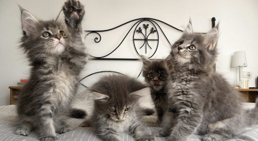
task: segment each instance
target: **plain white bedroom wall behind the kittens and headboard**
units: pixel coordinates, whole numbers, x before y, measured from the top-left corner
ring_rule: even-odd
[[[18,49],[20,30],[20,11],[17,3],[41,19],[50,19],[57,16],[64,1],[34,1],[34,0],[8,0],[0,1],[0,105],[8,105],[10,90],[8,86],[15,86],[21,78],[28,76],[28,63],[25,55]],[[248,67],[243,70],[253,72],[249,86],[256,86],[255,78],[258,76],[256,40],[258,39],[258,1],[119,1],[119,0],[83,0],[86,14],[83,27],[87,30],[102,30],[112,28],[118,24],[140,17],[151,17],[165,21],[181,29],[186,26],[189,16],[192,18],[193,30],[207,32],[211,29],[211,18],[214,16],[220,21],[220,36],[218,48],[220,55],[216,69],[225,74],[231,84],[237,83],[237,70],[230,68],[230,60],[233,52],[246,51]],[[130,25],[102,35],[102,41],[98,44],[87,38],[89,51],[94,55],[104,55],[118,42],[128,31]],[[169,40],[174,42],[180,35],[166,26],[162,26]],[[134,29],[134,28],[133,28]],[[160,34],[160,32],[159,32]],[[92,36],[93,37],[93,36]],[[153,36],[155,38],[155,36]],[[160,36],[160,51],[157,57],[167,55],[169,45]],[[101,48],[101,49],[100,49]],[[101,52],[96,52],[101,51]],[[159,50],[158,49],[158,50]],[[128,35],[115,55],[110,57],[136,57],[132,46],[132,32]],[[91,61],[83,75],[99,70],[119,70],[120,72],[136,76],[141,67],[140,62],[122,61]],[[96,79],[89,78],[86,82]],[[81,89],[82,90],[82,89]],[[81,91],[80,90],[80,91]]]

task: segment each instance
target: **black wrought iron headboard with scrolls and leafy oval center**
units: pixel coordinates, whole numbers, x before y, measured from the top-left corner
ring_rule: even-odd
[[[212,21],[212,28],[215,27],[215,18],[213,17],[211,19]],[[141,27],[139,27],[139,24],[142,23],[143,21],[148,21],[152,24],[153,27],[150,28],[149,32],[147,32],[147,28],[149,28],[149,24],[143,24],[143,29]],[[116,26],[114,28],[110,28],[110,29],[106,29],[106,30],[85,30],[85,32],[87,32],[85,38],[89,35],[89,34],[96,34],[98,35],[98,37],[95,37],[94,38],[94,41],[95,43],[99,43],[101,41],[101,35],[100,35],[100,32],[107,32],[107,31],[110,31],[110,30],[114,30],[116,28],[119,28],[121,26],[124,26],[125,24],[128,24],[128,23],[131,23],[131,22],[134,22],[133,26],[129,29],[129,31],[126,33],[126,35],[124,36],[124,38],[122,39],[122,41],[117,45],[117,47],[115,49],[113,49],[111,52],[109,52],[108,54],[104,55],[104,56],[93,56],[93,55],[90,55],[91,58],[90,60],[131,60],[131,61],[135,61],[135,60],[139,60],[138,58],[108,58],[108,56],[110,54],[112,54],[125,40],[125,38],[127,37],[127,35],[131,32],[131,30],[133,29],[133,27],[136,27],[134,28],[134,32],[133,32],[133,46],[134,46],[134,49],[135,49],[135,52],[140,56],[139,52],[137,51],[136,49],[136,46],[135,46],[135,41],[137,40],[141,40],[141,41],[144,41],[143,45],[139,48],[141,49],[142,47],[144,47],[145,45],[145,53],[147,53],[147,47],[152,49],[152,47],[149,45],[149,41],[156,41],[157,42],[157,46],[156,46],[156,49],[154,51],[154,53],[148,57],[148,58],[151,58],[157,51],[158,49],[158,45],[159,45],[159,33],[158,33],[158,30],[159,29],[162,33],[162,35],[165,37],[166,41],[168,42],[168,44],[171,45],[171,43],[169,42],[167,36],[165,35],[165,33],[163,32],[162,28],[159,26],[158,22],[162,23],[162,24],[165,24],[167,25],[168,27],[171,27],[177,31],[180,31],[180,32],[183,32],[183,30],[180,30],[164,21],[161,21],[161,20],[158,20],[158,19],[154,19],[154,18],[138,18],[138,19],[134,19],[134,20],[131,20],[131,21],[128,21],[128,22],[125,22],[123,24],[120,24],[119,26]],[[157,27],[158,28],[157,28]],[[143,30],[143,31],[142,31]],[[145,32],[144,32],[145,31]],[[141,34],[143,36],[142,39],[139,39],[139,38],[135,38],[135,33],[138,33],[138,34]],[[147,34],[148,33],[148,34]],[[149,35],[151,34],[157,34],[157,39],[149,39]],[[94,73],[91,73],[85,77],[83,77],[82,79],[80,79],[80,84],[82,84],[82,80],[84,80],[85,78],[89,77],[89,76],[92,76],[93,74],[97,74],[97,73],[103,73],[103,72],[114,72],[114,73],[119,73],[119,74],[122,74],[120,72],[116,72],[116,71],[98,71],[98,72],[94,72]],[[141,75],[141,72],[140,74],[138,75],[138,77]],[[138,78],[137,77],[137,78]],[[84,87],[88,88],[87,86],[85,86],[84,84],[82,84]]]

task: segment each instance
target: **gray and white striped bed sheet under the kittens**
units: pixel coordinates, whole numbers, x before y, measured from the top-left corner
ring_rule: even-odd
[[[76,102],[73,105],[77,108],[85,109],[89,114],[91,113],[92,102],[87,92],[79,94],[76,98]],[[147,95],[141,99],[142,106],[153,107],[150,97]],[[247,103],[246,107],[253,107],[254,104]],[[14,134],[15,126],[14,122],[16,119],[16,106],[7,105],[0,106],[0,141],[36,141],[39,140],[35,132],[31,132],[28,136],[19,136]],[[70,118],[68,123],[71,130],[64,134],[57,134],[58,141],[100,141],[100,139],[94,134],[91,127],[79,127],[82,123],[82,119]],[[156,127],[156,116],[150,115],[143,117],[144,123],[148,126],[148,131],[152,134]],[[128,134],[121,134],[121,139],[123,141],[135,141],[135,138]],[[201,141],[201,136],[191,135],[188,139],[189,141]],[[167,138],[157,137],[157,141],[166,141]],[[232,140],[246,140],[246,141],[258,141],[258,125],[247,128],[242,134],[229,139]]]

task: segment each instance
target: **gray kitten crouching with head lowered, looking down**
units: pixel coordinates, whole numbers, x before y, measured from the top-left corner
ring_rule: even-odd
[[[155,141],[142,125],[145,114],[139,108],[139,98],[147,93],[147,86],[125,75],[101,78],[90,88],[94,99],[94,113],[90,123],[96,135],[104,141],[121,141],[120,133],[129,133],[137,141]],[[92,123],[91,123],[92,122]]]

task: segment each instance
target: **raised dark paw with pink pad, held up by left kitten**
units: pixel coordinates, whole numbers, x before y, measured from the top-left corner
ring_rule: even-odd
[[[78,24],[82,22],[84,6],[77,0],[68,0],[63,6],[65,22],[69,28],[78,30]]]

